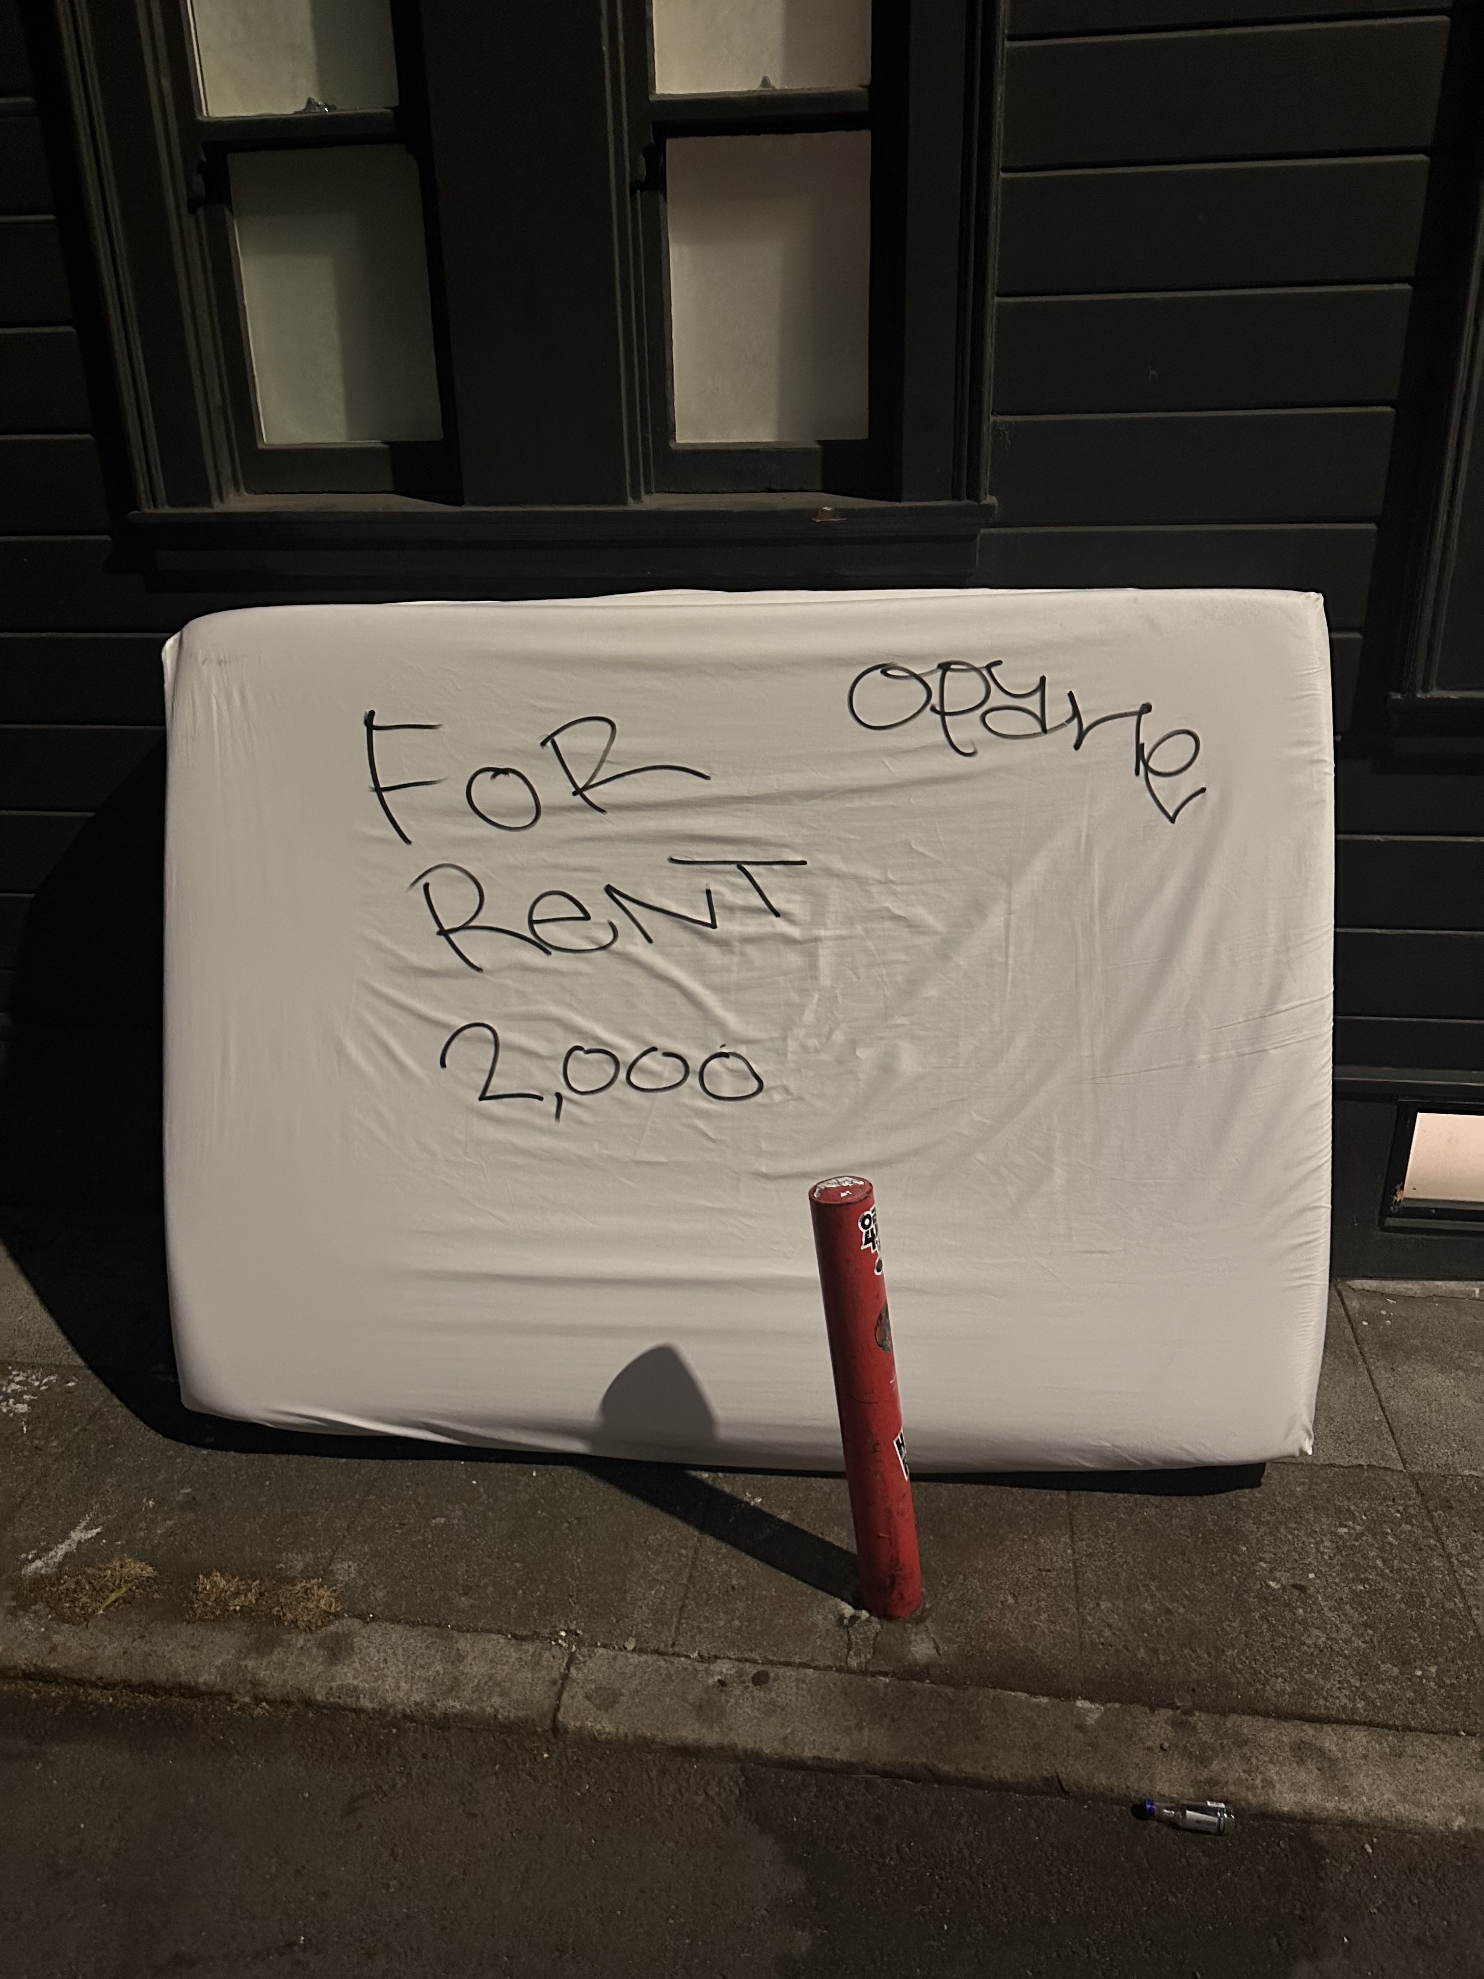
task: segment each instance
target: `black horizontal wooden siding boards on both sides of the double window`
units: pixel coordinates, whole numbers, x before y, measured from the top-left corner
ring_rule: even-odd
[[[1322,592],[1336,1063],[1484,1073],[1484,778],[1397,766],[1363,639],[1448,10],[1009,0],[1007,22],[977,580]],[[158,647],[239,600],[152,590],[117,528],[117,404],[38,73],[40,119],[0,0],[0,1005],[24,956],[28,1017],[156,1037]],[[119,1077],[105,1053],[89,1104]]]

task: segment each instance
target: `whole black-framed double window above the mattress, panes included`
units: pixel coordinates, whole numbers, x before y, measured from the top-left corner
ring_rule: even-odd
[[[837,495],[841,544],[892,503],[871,540],[928,546],[863,578],[932,576],[934,542],[972,568],[977,0],[61,18],[148,540],[186,511],[611,530],[580,515]]]

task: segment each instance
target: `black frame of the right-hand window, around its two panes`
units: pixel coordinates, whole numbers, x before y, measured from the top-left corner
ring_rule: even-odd
[[[867,89],[659,95],[649,0],[621,0],[645,491],[817,491],[879,501],[983,499],[987,214],[983,12],[977,0],[873,0]],[[865,441],[677,443],[665,144],[722,133],[871,131],[871,382]]]

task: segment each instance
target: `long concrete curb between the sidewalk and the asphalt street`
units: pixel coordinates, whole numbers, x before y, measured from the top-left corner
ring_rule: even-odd
[[[1134,1801],[1223,1799],[1241,1815],[1484,1833],[1484,1740],[1306,1724],[845,1670],[702,1662],[402,1623],[317,1635],[109,1615],[0,1613],[0,1676],[463,1724],[774,1765]]]

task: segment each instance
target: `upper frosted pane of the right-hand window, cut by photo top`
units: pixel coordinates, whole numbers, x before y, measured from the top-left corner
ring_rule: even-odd
[[[863,89],[871,0],[653,0],[659,95]]]

